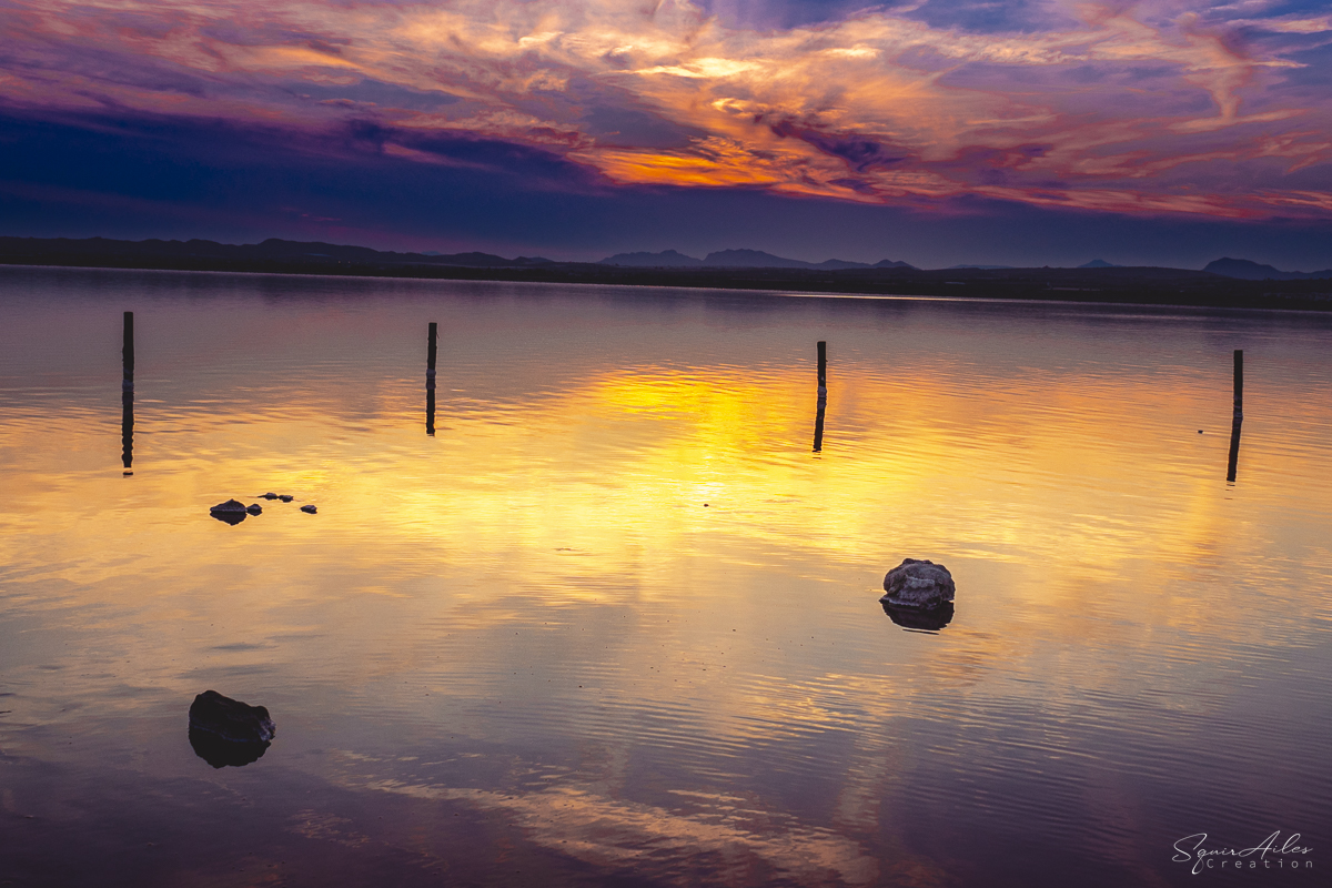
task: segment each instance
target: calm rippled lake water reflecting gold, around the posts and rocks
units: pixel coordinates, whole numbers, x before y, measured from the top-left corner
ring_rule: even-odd
[[[1325,316],[7,268],[0,466],[0,884],[1332,868]]]

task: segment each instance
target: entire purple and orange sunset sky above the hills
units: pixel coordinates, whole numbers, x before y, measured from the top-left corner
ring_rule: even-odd
[[[0,234],[1332,266],[1327,3],[4,0]]]

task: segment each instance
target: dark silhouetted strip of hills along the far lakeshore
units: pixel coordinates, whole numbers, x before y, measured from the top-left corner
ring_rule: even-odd
[[[741,256],[735,256],[739,253]],[[733,261],[769,256],[733,250]],[[687,257],[686,257],[687,258]],[[782,257],[773,257],[781,260]],[[659,261],[659,260],[658,260]],[[785,260],[795,264],[797,260]],[[1235,260],[1229,260],[1235,262]],[[1300,274],[1300,280],[1237,280],[1209,272],[1167,268],[1011,268],[922,270],[904,262],[878,266],[829,268],[801,262],[791,266],[618,266],[591,262],[513,260],[490,253],[426,256],[324,242],[269,240],[262,244],[214,241],[115,241],[107,238],[0,237],[0,264],[72,268],[257,272],[277,274],[342,274],[365,277],[542,281],[550,284],[613,284],[651,288],[706,288],[774,293],[847,293],[984,300],[1059,300],[1135,305],[1199,305],[1332,310],[1332,284],[1305,280],[1332,272]],[[1256,264],[1243,264],[1241,268]],[[1221,268],[1227,268],[1223,265]],[[1252,269],[1249,269],[1252,270]],[[1275,270],[1275,269],[1273,269]],[[1259,273],[1269,274],[1259,266]],[[663,293],[658,298],[667,298]]]

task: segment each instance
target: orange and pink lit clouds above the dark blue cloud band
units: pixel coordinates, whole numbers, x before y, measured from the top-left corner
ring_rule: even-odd
[[[40,113],[178,116],[453,164],[539,149],[599,188],[939,208],[1332,216],[1327,15],[1048,3],[980,32],[928,7],[741,27],[687,0],[12,0],[0,91]],[[727,24],[730,23],[730,24]],[[364,141],[364,140],[362,140]]]

